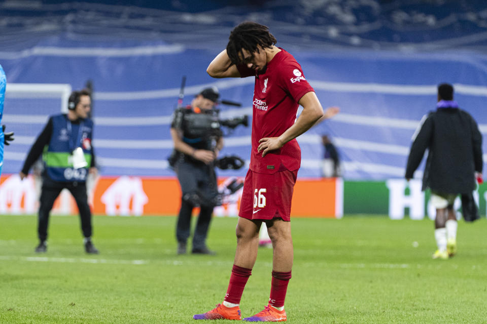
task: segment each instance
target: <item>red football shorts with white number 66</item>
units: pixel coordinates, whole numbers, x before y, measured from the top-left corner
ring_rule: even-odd
[[[243,182],[238,216],[247,219],[291,220],[291,200],[298,170],[274,174],[255,173],[249,169]]]

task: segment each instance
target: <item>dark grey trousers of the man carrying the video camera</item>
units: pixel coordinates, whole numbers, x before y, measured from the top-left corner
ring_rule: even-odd
[[[191,231],[193,208],[200,206],[198,221],[193,234],[193,249],[206,247],[206,236],[210,228],[214,208],[214,198],[218,194],[217,178],[213,166],[196,165],[188,161],[179,161],[176,173],[183,196],[176,225],[178,242],[188,240]]]

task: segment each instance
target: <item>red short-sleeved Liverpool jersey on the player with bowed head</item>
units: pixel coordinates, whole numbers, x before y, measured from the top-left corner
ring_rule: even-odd
[[[245,65],[237,68],[241,77],[256,75]],[[264,157],[257,148],[261,138],[278,137],[294,124],[299,100],[311,91],[315,90],[304,78],[301,66],[283,49],[267,63],[263,74],[255,76],[250,170],[271,174],[299,169],[301,149],[296,139]]]

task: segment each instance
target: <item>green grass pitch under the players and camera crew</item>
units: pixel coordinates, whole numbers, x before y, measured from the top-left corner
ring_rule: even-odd
[[[176,255],[175,217],[93,218],[100,255],[84,254],[77,217],[53,216],[37,255],[34,216],[0,216],[0,323],[195,323],[222,302],[236,218],[214,218],[216,256]],[[194,222],[194,220],[193,220]],[[194,225],[194,224],[193,224]],[[458,255],[432,260],[430,220],[292,220],[289,323],[487,322],[487,221],[459,222]],[[260,249],[244,317],[270,290],[272,251]]]

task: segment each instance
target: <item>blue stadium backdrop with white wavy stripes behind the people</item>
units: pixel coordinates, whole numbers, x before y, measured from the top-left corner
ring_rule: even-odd
[[[267,24],[277,45],[302,65],[324,107],[341,113],[298,138],[299,177],[318,177],[329,134],[339,149],[345,179],[402,177],[411,136],[434,109],[436,85],[452,83],[456,100],[487,132],[487,4],[458,1],[263,2],[242,9],[190,1],[141,7],[44,1],[42,6],[0,3],[0,64],[9,83],[94,84],[94,147],[102,175],[172,176],[166,158],[171,113],[181,77],[185,103],[217,86],[222,117],[252,113],[253,78],[213,79],[206,66],[243,20]],[[311,4],[310,4],[311,3]],[[175,7],[175,4],[179,4]],[[355,5],[354,5],[355,4]],[[4,122],[15,130],[4,173],[17,173],[27,150],[59,100],[5,102]],[[222,154],[250,155],[251,129],[225,138]],[[484,143],[484,151],[487,144]],[[221,171],[223,176],[245,170]],[[421,176],[421,171],[416,177]]]

